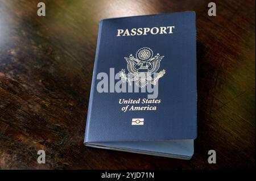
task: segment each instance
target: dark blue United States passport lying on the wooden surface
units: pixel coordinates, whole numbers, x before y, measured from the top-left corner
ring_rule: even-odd
[[[190,159],[196,85],[195,12],[101,20],[84,144]]]

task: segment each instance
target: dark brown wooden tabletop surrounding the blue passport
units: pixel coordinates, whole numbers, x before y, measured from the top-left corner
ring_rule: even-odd
[[[255,1],[0,0],[0,169],[255,169]],[[198,137],[191,161],[83,145],[102,18],[194,10]],[[46,151],[38,164],[37,151]],[[208,150],[217,163],[208,163]]]

